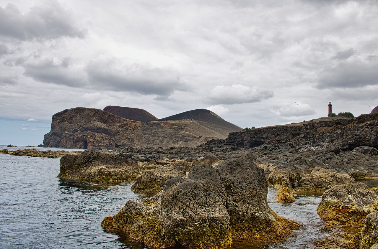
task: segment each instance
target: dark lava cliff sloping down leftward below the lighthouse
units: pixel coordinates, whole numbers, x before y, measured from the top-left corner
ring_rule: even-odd
[[[305,124],[271,126],[232,132],[226,140],[211,140],[212,145],[254,148],[262,144],[292,143],[302,148],[325,147],[352,150],[359,146],[378,148],[378,114],[339,118]]]

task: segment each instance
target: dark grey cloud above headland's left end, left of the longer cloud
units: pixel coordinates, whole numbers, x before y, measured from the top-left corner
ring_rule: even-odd
[[[70,87],[82,87],[83,78],[68,68],[69,58],[61,61],[54,61],[51,58],[37,63],[25,63],[24,75],[31,77],[35,81],[54,83]]]

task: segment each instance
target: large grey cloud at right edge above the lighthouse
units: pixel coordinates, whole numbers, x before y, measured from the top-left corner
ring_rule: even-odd
[[[360,88],[378,85],[378,63],[341,61],[321,72],[316,88]]]

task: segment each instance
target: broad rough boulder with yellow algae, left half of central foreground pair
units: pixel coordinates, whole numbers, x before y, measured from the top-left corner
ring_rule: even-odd
[[[232,243],[222,181],[212,166],[203,164],[194,166],[187,180],[167,180],[150,199],[128,201],[101,225],[153,247],[225,248]]]

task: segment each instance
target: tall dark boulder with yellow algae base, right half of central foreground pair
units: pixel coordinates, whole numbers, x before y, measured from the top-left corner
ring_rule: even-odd
[[[227,193],[232,238],[250,241],[283,241],[299,224],[279,217],[268,206],[268,181],[251,154],[238,154],[217,167]]]

